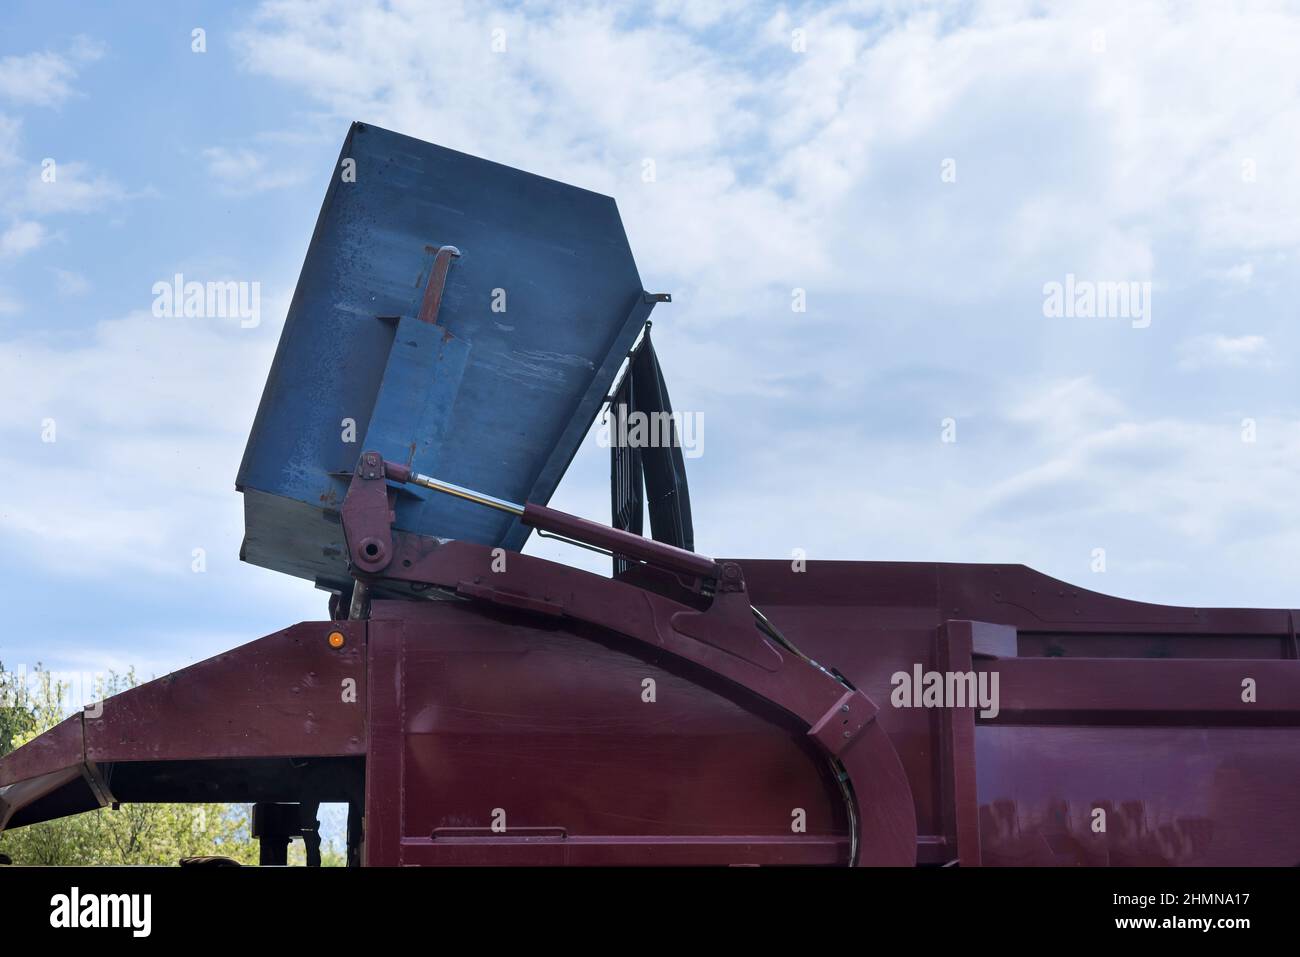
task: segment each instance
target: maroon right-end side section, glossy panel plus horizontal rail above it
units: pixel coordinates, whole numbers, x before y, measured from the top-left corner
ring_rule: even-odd
[[[1300,865],[1300,662],[988,661],[985,861]]]

